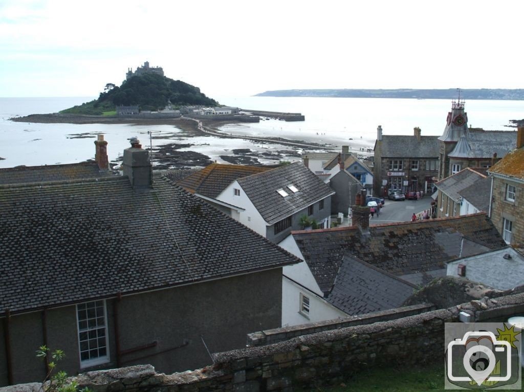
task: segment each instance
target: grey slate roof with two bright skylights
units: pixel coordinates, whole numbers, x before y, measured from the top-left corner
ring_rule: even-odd
[[[328,185],[300,162],[240,178],[238,183],[269,225],[334,194]],[[293,193],[288,185],[297,187],[298,192]],[[277,189],[280,188],[285,189],[288,196],[278,194]]]

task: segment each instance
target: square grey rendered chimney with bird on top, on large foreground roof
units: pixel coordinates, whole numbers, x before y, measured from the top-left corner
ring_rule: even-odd
[[[134,189],[152,187],[152,169],[149,161],[149,152],[142,149],[140,141],[130,138],[131,147],[124,150],[122,167],[124,175]]]

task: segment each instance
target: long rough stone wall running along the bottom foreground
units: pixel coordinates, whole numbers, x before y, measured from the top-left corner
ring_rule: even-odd
[[[214,364],[195,371],[158,374],[150,365],[81,374],[80,387],[94,392],[228,390],[261,392],[340,383],[363,368],[442,361],[444,323],[465,311],[477,321],[505,321],[524,312],[524,293],[485,297],[447,309],[396,320],[322,331],[285,342],[213,355]],[[39,384],[0,388],[0,392],[37,391]]]

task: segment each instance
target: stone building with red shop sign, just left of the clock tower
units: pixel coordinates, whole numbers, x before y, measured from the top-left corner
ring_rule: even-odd
[[[439,144],[436,136],[422,136],[420,128],[413,136],[383,135],[377,128],[374,156],[375,195],[387,197],[388,192],[430,193],[439,171]]]

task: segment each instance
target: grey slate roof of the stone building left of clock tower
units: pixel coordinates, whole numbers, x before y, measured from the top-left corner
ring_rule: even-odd
[[[438,136],[383,135],[382,158],[439,158]]]

